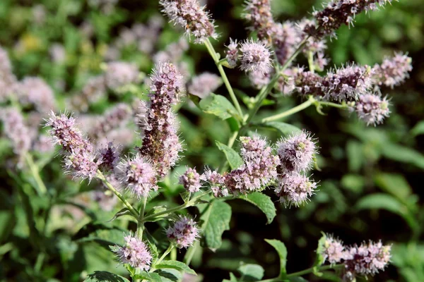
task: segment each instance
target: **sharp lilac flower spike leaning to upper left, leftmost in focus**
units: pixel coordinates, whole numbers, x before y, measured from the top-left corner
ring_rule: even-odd
[[[101,160],[95,161],[93,145],[83,137],[76,128],[73,117],[61,114],[56,116],[53,112],[46,122],[50,126],[50,135],[54,143],[62,147],[65,156],[65,168],[74,176],[92,179],[100,165]]]

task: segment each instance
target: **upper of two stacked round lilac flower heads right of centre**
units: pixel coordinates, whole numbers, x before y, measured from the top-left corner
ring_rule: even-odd
[[[277,147],[280,173],[307,171],[312,167],[314,154],[317,153],[315,140],[305,130],[284,138],[277,143]]]

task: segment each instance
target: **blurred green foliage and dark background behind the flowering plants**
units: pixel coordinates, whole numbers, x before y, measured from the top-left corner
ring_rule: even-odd
[[[218,25],[220,37],[213,42],[223,51],[229,37],[245,39],[249,36],[242,19],[242,0],[203,1]],[[321,1],[273,1],[273,15],[278,20],[300,20],[310,16],[312,7]],[[277,217],[266,225],[263,214],[241,200],[229,201],[232,206],[230,231],[224,233],[223,246],[212,252],[203,250],[193,259],[194,269],[204,281],[221,281],[229,271],[236,271],[241,262],[264,266],[266,277],[278,274],[278,257],[265,238],[282,240],[288,247],[288,271],[310,267],[321,231],[334,233],[346,244],[363,240],[382,240],[393,244],[391,266],[370,281],[424,281],[424,5],[421,0],[394,1],[380,11],[357,16],[355,27],[341,27],[338,39],[328,42],[330,66],[357,62],[373,65],[384,56],[404,51],[413,59],[413,72],[401,87],[385,89],[391,97],[391,116],[383,125],[367,127],[346,111],[324,109],[326,116],[307,109],[290,116],[285,122],[306,128],[319,140],[318,164],[314,171],[319,180],[319,191],[305,207],[285,209],[278,202]],[[69,109],[67,99],[81,91],[87,77],[102,73],[102,63],[114,60],[131,61],[144,73],[149,73],[152,56],[172,42],[181,32],[167,24],[155,0],[1,0],[0,46],[8,50],[13,71],[21,79],[28,75],[44,78],[54,89],[60,109]],[[155,18],[159,16],[158,18]],[[125,30],[136,23],[148,25],[156,20],[160,27],[157,38],[148,39],[151,50],[141,50],[130,42],[124,44]],[[52,46],[64,47],[64,58],[54,59]],[[148,44],[148,46],[150,46]],[[119,47],[112,50],[111,47]],[[113,55],[113,56],[112,56]],[[189,72],[216,72],[213,61],[201,45],[190,44],[182,56]],[[298,63],[305,63],[300,58]],[[244,73],[228,70],[228,77],[237,92],[254,96],[257,90],[249,86]],[[130,102],[134,95],[142,96],[145,85],[124,95],[110,95],[90,105],[88,112],[100,114],[117,101]],[[226,94],[225,87],[216,91]],[[297,97],[282,98],[275,93],[269,106],[260,116],[283,111],[301,102]],[[179,110],[184,158],[173,175],[184,171],[184,165],[217,168],[223,154],[215,147],[215,140],[227,142],[230,128],[225,121],[201,114],[187,103]],[[260,130],[275,142],[280,135]],[[139,144],[140,140],[134,140]],[[42,250],[33,247],[25,211],[20,207],[22,195],[13,189],[13,179],[6,172],[10,145],[1,139],[1,204],[0,204],[0,278],[4,281],[80,281],[81,274],[93,270],[116,269],[113,256],[94,243],[81,243],[81,233],[101,224],[113,213],[100,216],[93,226],[86,226],[87,216],[76,219],[75,211],[57,214],[52,219],[49,236]],[[42,171],[49,187],[57,188],[57,195],[72,197],[93,189],[95,183],[73,183],[62,176],[59,158]],[[170,182],[175,182],[175,177]],[[173,187],[173,188],[172,188]],[[168,185],[157,202],[175,199],[179,187]],[[269,191],[269,195],[276,197]],[[89,200],[87,200],[89,201]],[[176,200],[177,201],[177,200]],[[36,216],[50,207],[45,202],[33,202]],[[52,204],[52,203],[49,203]],[[47,205],[49,205],[47,204]],[[89,206],[90,207],[90,206]],[[98,207],[90,207],[98,209]],[[190,212],[196,214],[193,209]],[[69,223],[64,221],[69,219]],[[57,222],[56,222],[57,221]],[[57,226],[54,225],[57,223]],[[59,224],[60,223],[60,224]],[[67,224],[67,225],[66,225]],[[134,226],[133,226],[134,227]],[[88,228],[88,229],[87,229]],[[149,228],[149,226],[148,226]],[[157,226],[151,226],[157,228]],[[34,274],[33,265],[39,252],[45,252],[43,274]],[[177,254],[184,255],[183,253]],[[37,276],[37,278],[34,278]],[[34,280],[33,280],[34,279]],[[332,274],[310,276],[308,281],[338,281]],[[360,281],[360,279],[358,279]],[[54,280],[51,280],[54,281]]]

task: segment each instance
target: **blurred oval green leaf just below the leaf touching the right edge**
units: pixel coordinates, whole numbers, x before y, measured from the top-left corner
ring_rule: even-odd
[[[374,180],[379,188],[400,200],[407,200],[412,194],[411,186],[401,174],[379,173]]]

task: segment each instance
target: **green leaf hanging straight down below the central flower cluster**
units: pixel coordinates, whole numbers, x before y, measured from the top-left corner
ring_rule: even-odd
[[[222,244],[222,235],[230,229],[231,207],[226,202],[214,200],[207,207],[206,212],[200,217],[204,223],[204,243],[212,250],[218,249]]]

